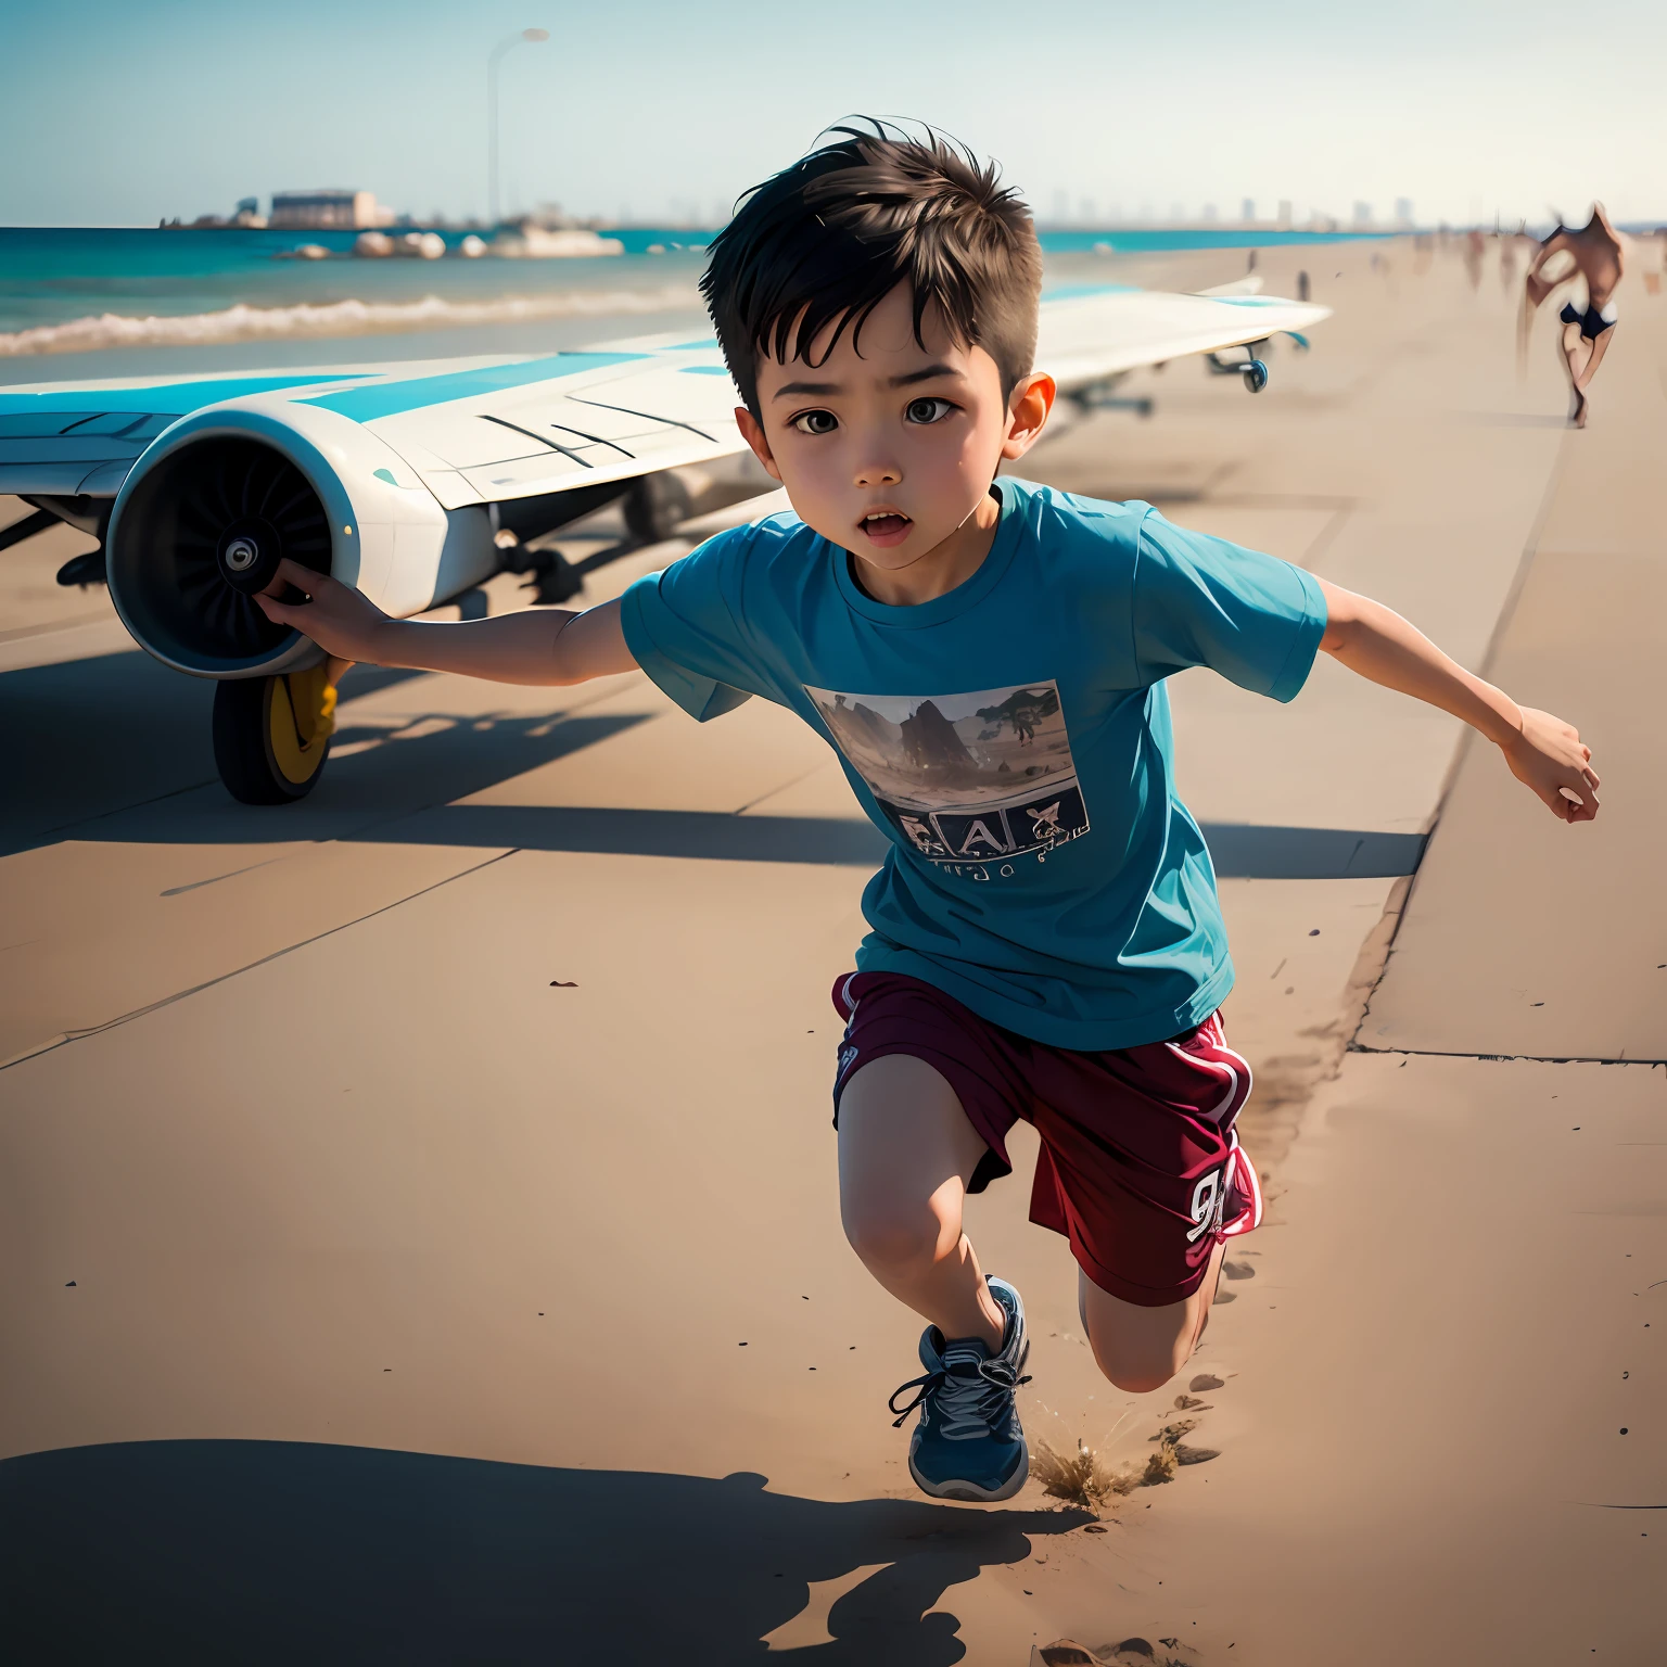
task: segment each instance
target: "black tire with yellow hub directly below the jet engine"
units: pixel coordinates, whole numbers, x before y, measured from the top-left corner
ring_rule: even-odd
[[[245,805],[305,798],[323,775],[335,732],[335,690],[325,665],[215,685],[213,762]]]

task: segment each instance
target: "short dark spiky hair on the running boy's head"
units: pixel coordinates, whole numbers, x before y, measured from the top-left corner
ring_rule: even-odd
[[[855,343],[899,283],[915,302],[915,340],[937,307],[967,347],[1002,372],[1002,393],[1030,373],[1042,248],[1025,202],[995,165],[930,128],[884,122],[842,135],[753,187],[713,238],[700,278],[723,358],[758,415],[757,355],[808,360],[815,337],[845,327]]]

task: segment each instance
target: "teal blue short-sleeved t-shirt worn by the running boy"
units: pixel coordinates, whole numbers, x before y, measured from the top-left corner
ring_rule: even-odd
[[[1234,969],[1164,678],[1209,665],[1290,700],[1325,598],[1147,503],[997,490],[984,565],[932,602],[875,602],[845,550],[783,513],[638,578],[625,642],[702,722],[763,695],[834,745],[890,839],[860,970],[1059,1047],[1172,1037]]]

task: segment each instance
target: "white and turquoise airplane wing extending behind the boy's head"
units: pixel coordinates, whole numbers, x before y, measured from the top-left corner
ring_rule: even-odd
[[[1042,303],[1037,365],[1064,392],[1142,365],[1319,323],[1329,308],[1254,293],[1072,285]],[[277,423],[328,412],[373,435],[442,508],[633,480],[742,450],[710,338],[642,338],[542,358],[467,358],[267,375],[0,390],[0,492],[115,498],[175,423],[208,407]]]

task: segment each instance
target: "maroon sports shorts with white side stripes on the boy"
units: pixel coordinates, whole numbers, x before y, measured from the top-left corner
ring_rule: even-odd
[[[1229,1045],[1220,1014],[1169,1042],[1082,1054],[1004,1030],[920,979],[854,972],[834,985],[845,1019],[839,1097],[887,1054],[937,1070],[989,1152],[969,1185],[1012,1174],[1007,1130],[1042,1137],[1030,1220],[1070,1239],[1102,1290],[1157,1309],[1190,1297],[1222,1239],[1262,1215],[1255,1169],[1234,1120],[1250,1067]]]

